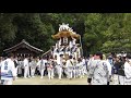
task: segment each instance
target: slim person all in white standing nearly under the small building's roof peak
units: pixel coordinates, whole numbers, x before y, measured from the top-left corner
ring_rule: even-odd
[[[27,76],[31,77],[29,76],[29,62],[28,62],[27,56],[25,56],[23,63],[24,63],[24,78],[27,78]]]

